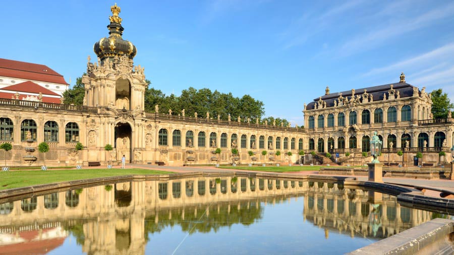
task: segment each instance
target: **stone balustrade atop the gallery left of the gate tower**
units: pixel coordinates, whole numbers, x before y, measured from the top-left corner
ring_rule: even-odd
[[[44,108],[44,109],[56,109],[56,110],[68,110],[68,111],[83,111],[90,113],[97,113],[96,107],[88,107],[84,105],[70,105],[70,104],[55,104],[55,103],[43,103],[34,101],[24,101],[17,99],[6,99],[0,98],[0,105],[20,106],[24,108]]]

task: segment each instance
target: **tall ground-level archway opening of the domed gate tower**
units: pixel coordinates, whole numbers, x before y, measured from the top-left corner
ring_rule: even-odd
[[[131,162],[132,154],[132,130],[128,123],[118,123],[115,126],[115,149],[117,150],[117,160],[121,160],[123,155],[126,162]]]

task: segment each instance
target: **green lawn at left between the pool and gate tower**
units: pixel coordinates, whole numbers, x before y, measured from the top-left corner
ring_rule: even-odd
[[[7,171],[0,172],[0,190],[25,187],[37,184],[53,183],[69,180],[81,180],[98,177],[121,176],[130,174],[169,174],[172,172],[148,169],[65,169],[49,171]]]

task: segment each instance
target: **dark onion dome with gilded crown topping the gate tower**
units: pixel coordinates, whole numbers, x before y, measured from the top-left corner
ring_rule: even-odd
[[[124,28],[122,27],[122,18],[118,16],[121,9],[115,4],[110,8],[112,16],[109,16],[110,24],[107,25],[109,36],[101,38],[93,45],[93,51],[96,55],[104,60],[106,57],[116,57],[127,55],[133,58],[137,49],[130,41],[123,40],[122,34]]]

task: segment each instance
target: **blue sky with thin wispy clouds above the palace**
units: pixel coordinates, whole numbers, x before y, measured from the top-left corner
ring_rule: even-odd
[[[74,84],[106,37],[107,1],[4,1],[0,57],[47,65]],[[152,86],[250,94],[303,124],[303,104],[399,82],[454,101],[452,1],[117,1],[123,38]]]

